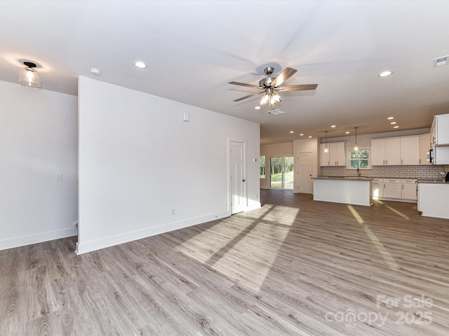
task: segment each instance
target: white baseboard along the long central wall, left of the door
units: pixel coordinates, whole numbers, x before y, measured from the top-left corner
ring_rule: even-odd
[[[119,244],[128,243],[129,241],[134,241],[142,238],[147,238],[155,235],[160,235],[161,233],[166,233],[174,230],[179,230],[182,228],[187,228],[189,226],[198,225],[201,223],[206,223],[209,221],[214,221],[216,219],[225,218],[231,216],[230,211],[225,211],[219,214],[211,214],[207,216],[201,216],[197,218],[192,218],[187,221],[180,221],[175,223],[168,223],[165,225],[156,226],[153,228],[147,228],[144,230],[126,232],[123,235],[116,235],[112,237],[106,237],[104,239],[99,239],[95,241],[86,241],[76,243],[76,254],[88,253],[101,248],[107,248],[110,246],[115,246]],[[79,229],[82,232],[83,223],[79,225]],[[82,237],[82,233],[81,233]],[[79,239],[80,240],[80,239]]]

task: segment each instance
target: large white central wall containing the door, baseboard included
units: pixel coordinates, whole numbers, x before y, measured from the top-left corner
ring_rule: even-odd
[[[229,141],[260,207],[260,125],[80,77],[77,253],[229,216]]]

